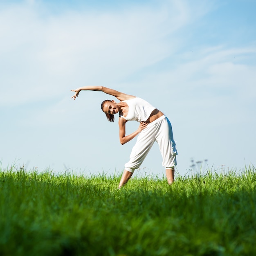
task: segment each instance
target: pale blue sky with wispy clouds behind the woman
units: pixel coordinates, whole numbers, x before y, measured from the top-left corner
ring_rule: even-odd
[[[2,168],[123,170],[135,140],[122,146],[118,124],[106,121],[100,104],[111,97],[71,100],[84,85],[164,112],[181,175],[191,159],[213,170],[255,166],[255,10],[252,0],[1,1]],[[129,122],[127,132],[137,127]],[[144,173],[164,173],[157,144]]]

